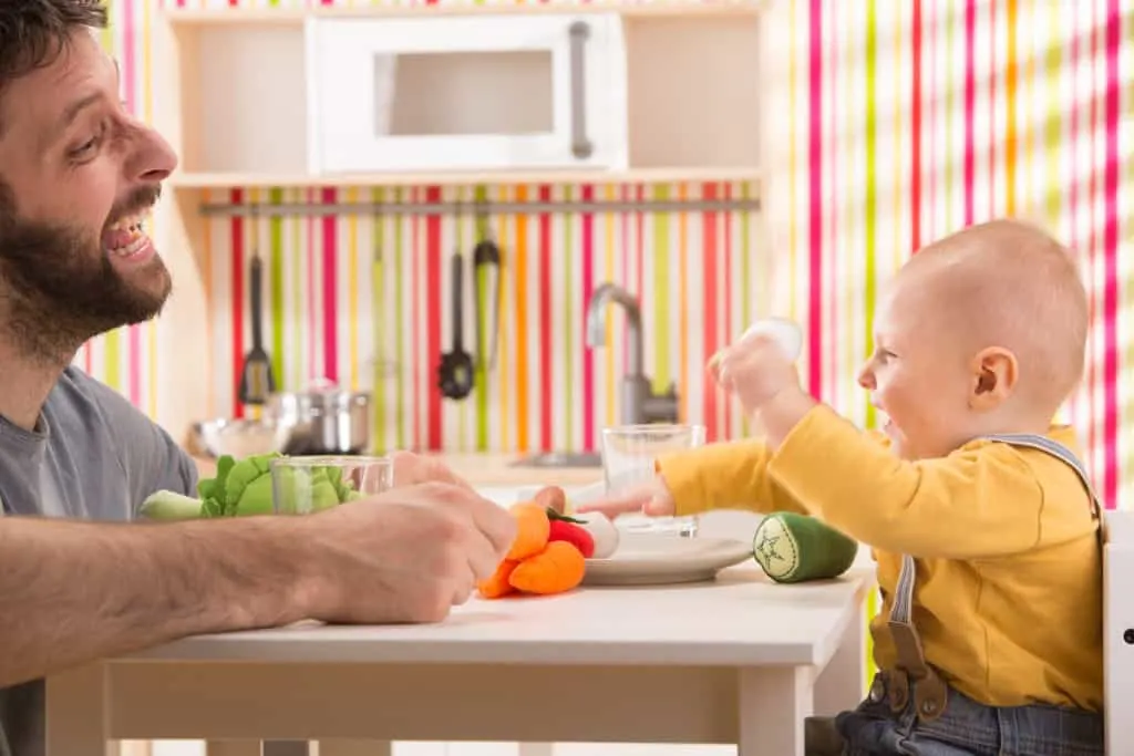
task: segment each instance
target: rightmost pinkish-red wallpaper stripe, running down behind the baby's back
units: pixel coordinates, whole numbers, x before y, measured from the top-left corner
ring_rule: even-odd
[[[1105,462],[1102,472],[1102,500],[1108,509],[1118,504],[1118,128],[1119,128],[1119,70],[1122,50],[1122,10],[1119,0],[1107,3],[1106,35],[1107,85],[1103,99],[1106,119],[1106,161],[1102,168],[1103,212],[1102,252],[1106,255],[1102,313],[1105,351],[1102,387],[1106,400],[1103,416]]]

